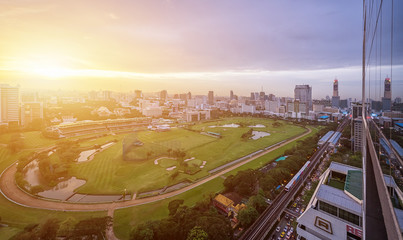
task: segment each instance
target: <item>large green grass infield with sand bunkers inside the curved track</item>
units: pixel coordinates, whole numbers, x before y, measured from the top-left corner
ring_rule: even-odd
[[[242,122],[245,127],[240,128],[210,128],[213,125],[224,125],[228,123]],[[279,121],[282,122],[282,121]],[[242,140],[241,136],[247,132],[249,125],[263,124],[265,128],[255,128],[257,131],[269,132],[271,135],[258,140]],[[195,181],[209,175],[208,171],[221,166],[227,162],[238,159],[249,153],[255,152],[264,147],[275,144],[284,139],[299,135],[306,131],[304,128],[282,122],[282,126],[273,127],[273,121],[257,118],[232,118],[215,122],[208,122],[192,126],[195,131],[186,129],[172,129],[168,132],[142,131],[135,135],[135,138],[144,145],[133,147],[130,153],[135,158],[145,160],[124,161],[122,159],[122,142],[125,136],[107,136],[103,141],[111,140],[112,137],[118,142],[105,151],[95,155],[90,162],[74,164],[72,175],[87,180],[86,184],[78,189],[78,192],[85,194],[122,194],[124,189],[131,193],[147,192],[174,185],[182,181]],[[214,131],[222,135],[222,138],[215,138],[198,133]],[[100,143],[100,139],[97,142]],[[154,164],[154,159],[161,156],[158,152],[168,156],[166,149],[179,149],[186,151],[186,158],[194,157],[189,162],[193,170],[197,171],[202,161],[206,161],[204,168],[196,174],[189,175],[180,172],[174,179],[171,177],[176,171],[167,171],[165,168],[178,166],[179,160],[163,160],[162,165]],[[152,151],[149,159],[146,153]]]

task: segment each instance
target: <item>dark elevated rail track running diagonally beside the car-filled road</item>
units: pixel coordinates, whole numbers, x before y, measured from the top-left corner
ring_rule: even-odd
[[[348,118],[337,127],[336,132],[342,132],[344,127],[348,123]],[[318,151],[316,151],[310,161],[311,164],[307,167],[306,171],[301,175],[299,182],[292,187],[288,192],[282,191],[272,202],[272,204],[266,208],[266,210],[259,216],[259,218],[249,227],[249,229],[240,237],[240,239],[264,239],[273,224],[277,221],[281,213],[285,210],[290,201],[294,198],[299,188],[304,185],[306,179],[311,175],[312,171],[316,168],[320,162],[320,158],[323,156],[329,146],[329,142],[323,144]]]

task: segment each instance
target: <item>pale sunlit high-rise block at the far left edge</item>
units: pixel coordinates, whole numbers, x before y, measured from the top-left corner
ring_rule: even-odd
[[[7,84],[0,85],[0,121],[3,123],[20,123],[20,87]]]

